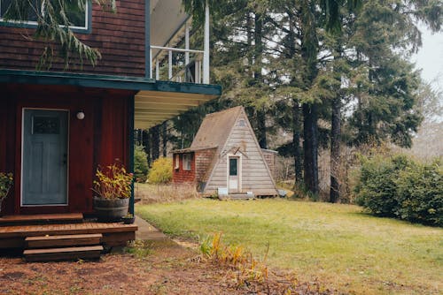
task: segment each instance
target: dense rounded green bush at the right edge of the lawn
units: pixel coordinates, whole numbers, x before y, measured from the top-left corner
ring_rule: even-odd
[[[377,216],[443,225],[443,169],[405,155],[363,158],[357,203]]]

